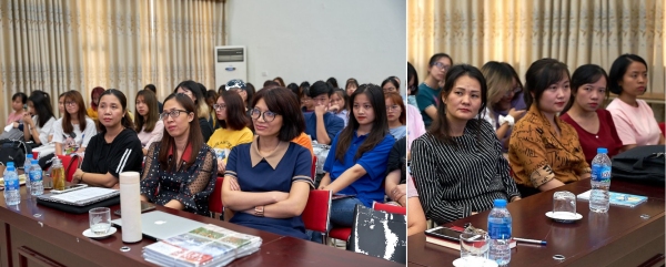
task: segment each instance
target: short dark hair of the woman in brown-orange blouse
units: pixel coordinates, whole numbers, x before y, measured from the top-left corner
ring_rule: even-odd
[[[538,101],[542,94],[551,84],[559,82],[562,79],[571,80],[568,69],[565,63],[555,59],[541,59],[532,63],[525,73],[525,104],[527,109],[533,103],[536,103],[538,110]],[[534,96],[532,96],[534,94]]]

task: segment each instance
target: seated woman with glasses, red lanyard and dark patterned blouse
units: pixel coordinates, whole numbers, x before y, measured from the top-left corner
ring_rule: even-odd
[[[164,100],[167,135],[148,150],[141,175],[141,201],[209,216],[215,189],[215,153],[203,142],[196,105],[184,94]]]

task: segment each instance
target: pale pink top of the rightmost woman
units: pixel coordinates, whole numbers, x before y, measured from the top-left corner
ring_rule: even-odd
[[[662,130],[655,120],[653,110],[643,100],[636,100],[638,107],[632,106],[619,99],[608,104],[613,115],[617,135],[623,145],[656,145],[659,144]]]

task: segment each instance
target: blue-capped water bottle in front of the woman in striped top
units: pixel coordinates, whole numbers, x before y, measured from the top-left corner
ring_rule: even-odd
[[[511,213],[506,209],[505,199],[495,199],[495,207],[488,215],[488,234],[491,246],[488,257],[498,266],[507,266],[511,261]]]

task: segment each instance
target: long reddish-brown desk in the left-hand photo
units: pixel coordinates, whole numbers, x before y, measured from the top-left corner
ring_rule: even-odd
[[[50,243],[63,249],[62,253],[77,255],[83,260],[101,266],[152,266],[151,263],[143,259],[141,253],[142,248],[154,243],[153,240],[144,237],[139,243],[124,244],[122,243],[122,229],[119,229],[107,239],[87,238],[82,233],[89,227],[88,214],[69,214],[44,207],[38,205],[34,198],[28,196],[23,186],[21,192],[21,204],[18,206],[8,207],[4,201],[0,201],[0,223],[6,223],[1,226],[18,229],[20,233],[28,233],[31,237],[38,238],[39,242]],[[0,198],[4,199],[4,196],[0,194]],[[118,208],[120,208],[120,205],[111,207],[112,210]],[[400,266],[381,258],[369,257],[313,242],[279,236],[182,210],[161,206],[158,209],[262,238],[262,246],[258,253],[239,258],[229,266]],[[113,214],[111,216],[112,219],[119,218]],[[3,235],[0,234],[0,237],[3,237]],[[6,257],[12,255],[12,251],[9,251],[11,248],[4,245],[0,244],[0,249],[2,249],[0,259],[7,261]],[[131,250],[120,251],[122,246],[128,246]],[[51,259],[59,261],[58,259]],[[17,259],[13,260],[12,265],[16,265]]]

